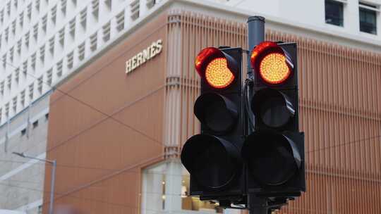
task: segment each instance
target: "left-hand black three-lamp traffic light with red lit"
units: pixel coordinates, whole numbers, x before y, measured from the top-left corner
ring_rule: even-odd
[[[189,138],[181,163],[191,174],[190,194],[229,206],[241,200],[244,176],[242,49],[207,47],[195,60],[201,92],[194,113],[201,133]]]

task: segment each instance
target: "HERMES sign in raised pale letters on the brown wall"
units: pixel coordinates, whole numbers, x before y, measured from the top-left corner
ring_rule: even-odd
[[[131,57],[126,61],[126,74],[131,73],[131,71],[138,68],[140,65],[143,65],[145,62],[149,61],[151,58],[154,58],[157,54],[162,52],[163,42],[162,39],[152,42],[150,46]]]

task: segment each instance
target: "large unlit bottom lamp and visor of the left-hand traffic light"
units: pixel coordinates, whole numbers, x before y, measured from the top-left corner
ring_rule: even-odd
[[[184,144],[181,163],[200,185],[219,189],[228,185],[239,172],[238,155],[238,149],[228,141],[197,134]]]

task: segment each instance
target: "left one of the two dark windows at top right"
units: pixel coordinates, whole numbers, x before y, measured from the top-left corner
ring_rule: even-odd
[[[344,26],[344,4],[340,1],[325,0],[325,23]]]

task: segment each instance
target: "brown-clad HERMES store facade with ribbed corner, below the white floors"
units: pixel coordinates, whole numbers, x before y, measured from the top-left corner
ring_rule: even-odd
[[[234,15],[169,4],[61,85],[81,102],[59,92],[51,97],[47,154],[71,165],[57,171],[57,209],[222,212],[187,196],[189,175],[179,153],[199,132],[193,116],[200,85],[195,56],[206,46],[247,46],[245,18]],[[298,43],[300,123],[306,132],[307,192],[282,212],[378,213],[381,55],[374,45],[359,49],[297,29],[267,21],[267,39]],[[126,73],[128,61],[159,40],[161,52]]]

